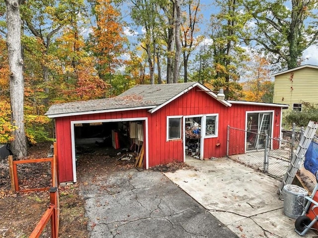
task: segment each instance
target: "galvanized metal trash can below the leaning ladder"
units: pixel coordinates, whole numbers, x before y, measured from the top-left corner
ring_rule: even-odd
[[[287,184],[283,188],[284,214],[296,219],[302,215],[308,191],[295,184]]]

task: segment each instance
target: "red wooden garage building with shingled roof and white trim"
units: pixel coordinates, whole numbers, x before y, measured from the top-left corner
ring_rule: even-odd
[[[187,82],[136,85],[113,98],[55,104],[46,115],[55,120],[59,180],[76,182],[76,148],[82,140],[111,138],[116,149],[143,144],[146,169],[185,161],[189,152],[199,159],[224,157],[259,149],[264,142],[245,132],[227,148],[228,126],[278,138],[285,107],[227,101],[198,82]]]

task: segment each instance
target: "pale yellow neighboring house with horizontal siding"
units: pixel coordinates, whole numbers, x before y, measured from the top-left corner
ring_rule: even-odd
[[[273,103],[288,104],[295,111],[302,110],[303,102],[318,104],[318,66],[303,65],[272,76],[275,77]]]

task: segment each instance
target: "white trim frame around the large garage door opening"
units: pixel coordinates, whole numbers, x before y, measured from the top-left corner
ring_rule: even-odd
[[[77,182],[76,175],[76,153],[75,153],[75,124],[79,123],[93,123],[93,122],[122,122],[122,121],[145,121],[145,136],[144,143],[146,144],[145,156],[146,156],[146,169],[149,168],[149,144],[148,144],[148,118],[147,117],[137,117],[137,118],[119,118],[119,119],[106,119],[106,120],[80,120],[71,121],[71,141],[72,141],[72,165],[73,165],[73,182]],[[146,138],[146,139],[145,139]]]

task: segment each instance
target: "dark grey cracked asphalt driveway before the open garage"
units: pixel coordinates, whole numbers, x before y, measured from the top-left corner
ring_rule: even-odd
[[[238,238],[158,171],[105,173],[80,194],[91,238]]]

